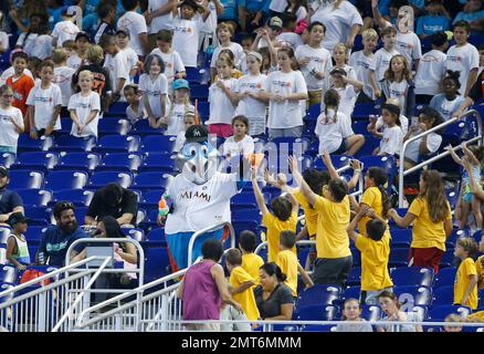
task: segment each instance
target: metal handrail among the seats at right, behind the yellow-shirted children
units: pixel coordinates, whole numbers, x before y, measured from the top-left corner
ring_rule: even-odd
[[[414,166],[414,167],[412,167],[410,169],[404,170],[403,169],[404,164],[403,164],[402,159],[404,158],[404,153],[407,150],[408,145],[410,143],[414,142],[414,140],[418,140],[418,139],[429,135],[430,133],[440,131],[443,127],[445,127],[445,126],[448,126],[448,125],[450,125],[452,123],[462,121],[464,117],[466,117],[469,115],[473,115],[473,114],[475,114],[475,116],[477,118],[477,136],[471,138],[467,143],[477,142],[478,145],[482,145],[482,143],[483,143],[482,142],[482,138],[483,138],[483,134],[482,134],[482,117],[481,117],[480,113],[477,111],[475,111],[475,110],[467,111],[461,117],[453,117],[453,118],[451,118],[451,119],[449,119],[449,121],[446,121],[446,122],[444,122],[444,123],[442,123],[442,124],[440,124],[440,125],[438,125],[438,126],[435,126],[435,127],[433,127],[433,128],[431,128],[429,131],[425,131],[425,132],[420,133],[420,134],[418,134],[415,136],[412,136],[411,138],[409,138],[408,140],[406,140],[402,144],[402,146],[400,148],[400,159],[401,159],[401,162],[400,162],[400,166],[399,166],[399,180],[398,180],[398,189],[399,189],[398,190],[398,206],[399,206],[399,208],[403,207],[403,177],[414,173],[415,170],[418,170],[418,169],[420,169],[420,168],[422,168],[424,166],[428,166],[429,164],[431,164],[433,162],[442,159],[442,158],[444,158],[445,156],[448,156],[450,154],[450,152],[443,152],[443,153],[441,153],[441,154],[439,154],[439,155],[436,155],[436,156],[434,156],[432,158],[429,158],[429,159],[424,160],[423,163],[418,164],[417,166]],[[454,149],[459,150],[461,148],[462,148],[461,146],[456,146]]]

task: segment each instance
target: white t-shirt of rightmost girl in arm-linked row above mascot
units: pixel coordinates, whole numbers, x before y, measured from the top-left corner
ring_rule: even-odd
[[[306,82],[301,71],[283,73],[276,71],[269,74],[265,81],[265,91],[281,95],[293,93],[307,93]],[[303,125],[303,112],[301,101],[284,100],[269,103],[269,128],[292,128]]]

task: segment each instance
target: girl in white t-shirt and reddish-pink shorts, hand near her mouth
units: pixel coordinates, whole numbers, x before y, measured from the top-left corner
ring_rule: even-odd
[[[235,115],[236,80],[232,77],[233,62],[219,59],[215,63],[218,80],[209,88],[209,133],[228,137],[232,135],[232,118]]]

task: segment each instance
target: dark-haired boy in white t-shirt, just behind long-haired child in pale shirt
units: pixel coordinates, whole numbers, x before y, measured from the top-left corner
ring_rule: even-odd
[[[172,83],[177,79],[183,79],[187,76],[185,65],[180,54],[171,49],[173,35],[171,31],[161,30],[156,35],[156,45],[151,54],[158,54],[165,62],[165,76],[168,79],[168,90],[170,94],[173,93]]]

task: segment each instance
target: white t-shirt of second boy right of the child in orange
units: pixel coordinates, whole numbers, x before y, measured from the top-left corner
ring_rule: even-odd
[[[95,137],[97,137],[97,123],[99,121],[101,112],[101,98],[97,92],[91,92],[87,96],[83,96],[81,92],[72,95],[69,100],[67,110],[75,111],[77,119],[81,124],[84,124],[87,121],[87,117],[92,111],[97,111],[94,119],[84,127],[84,131],[81,135],[77,134],[77,126],[75,124],[72,125],[71,129],[71,135],[74,136],[94,135]]]

